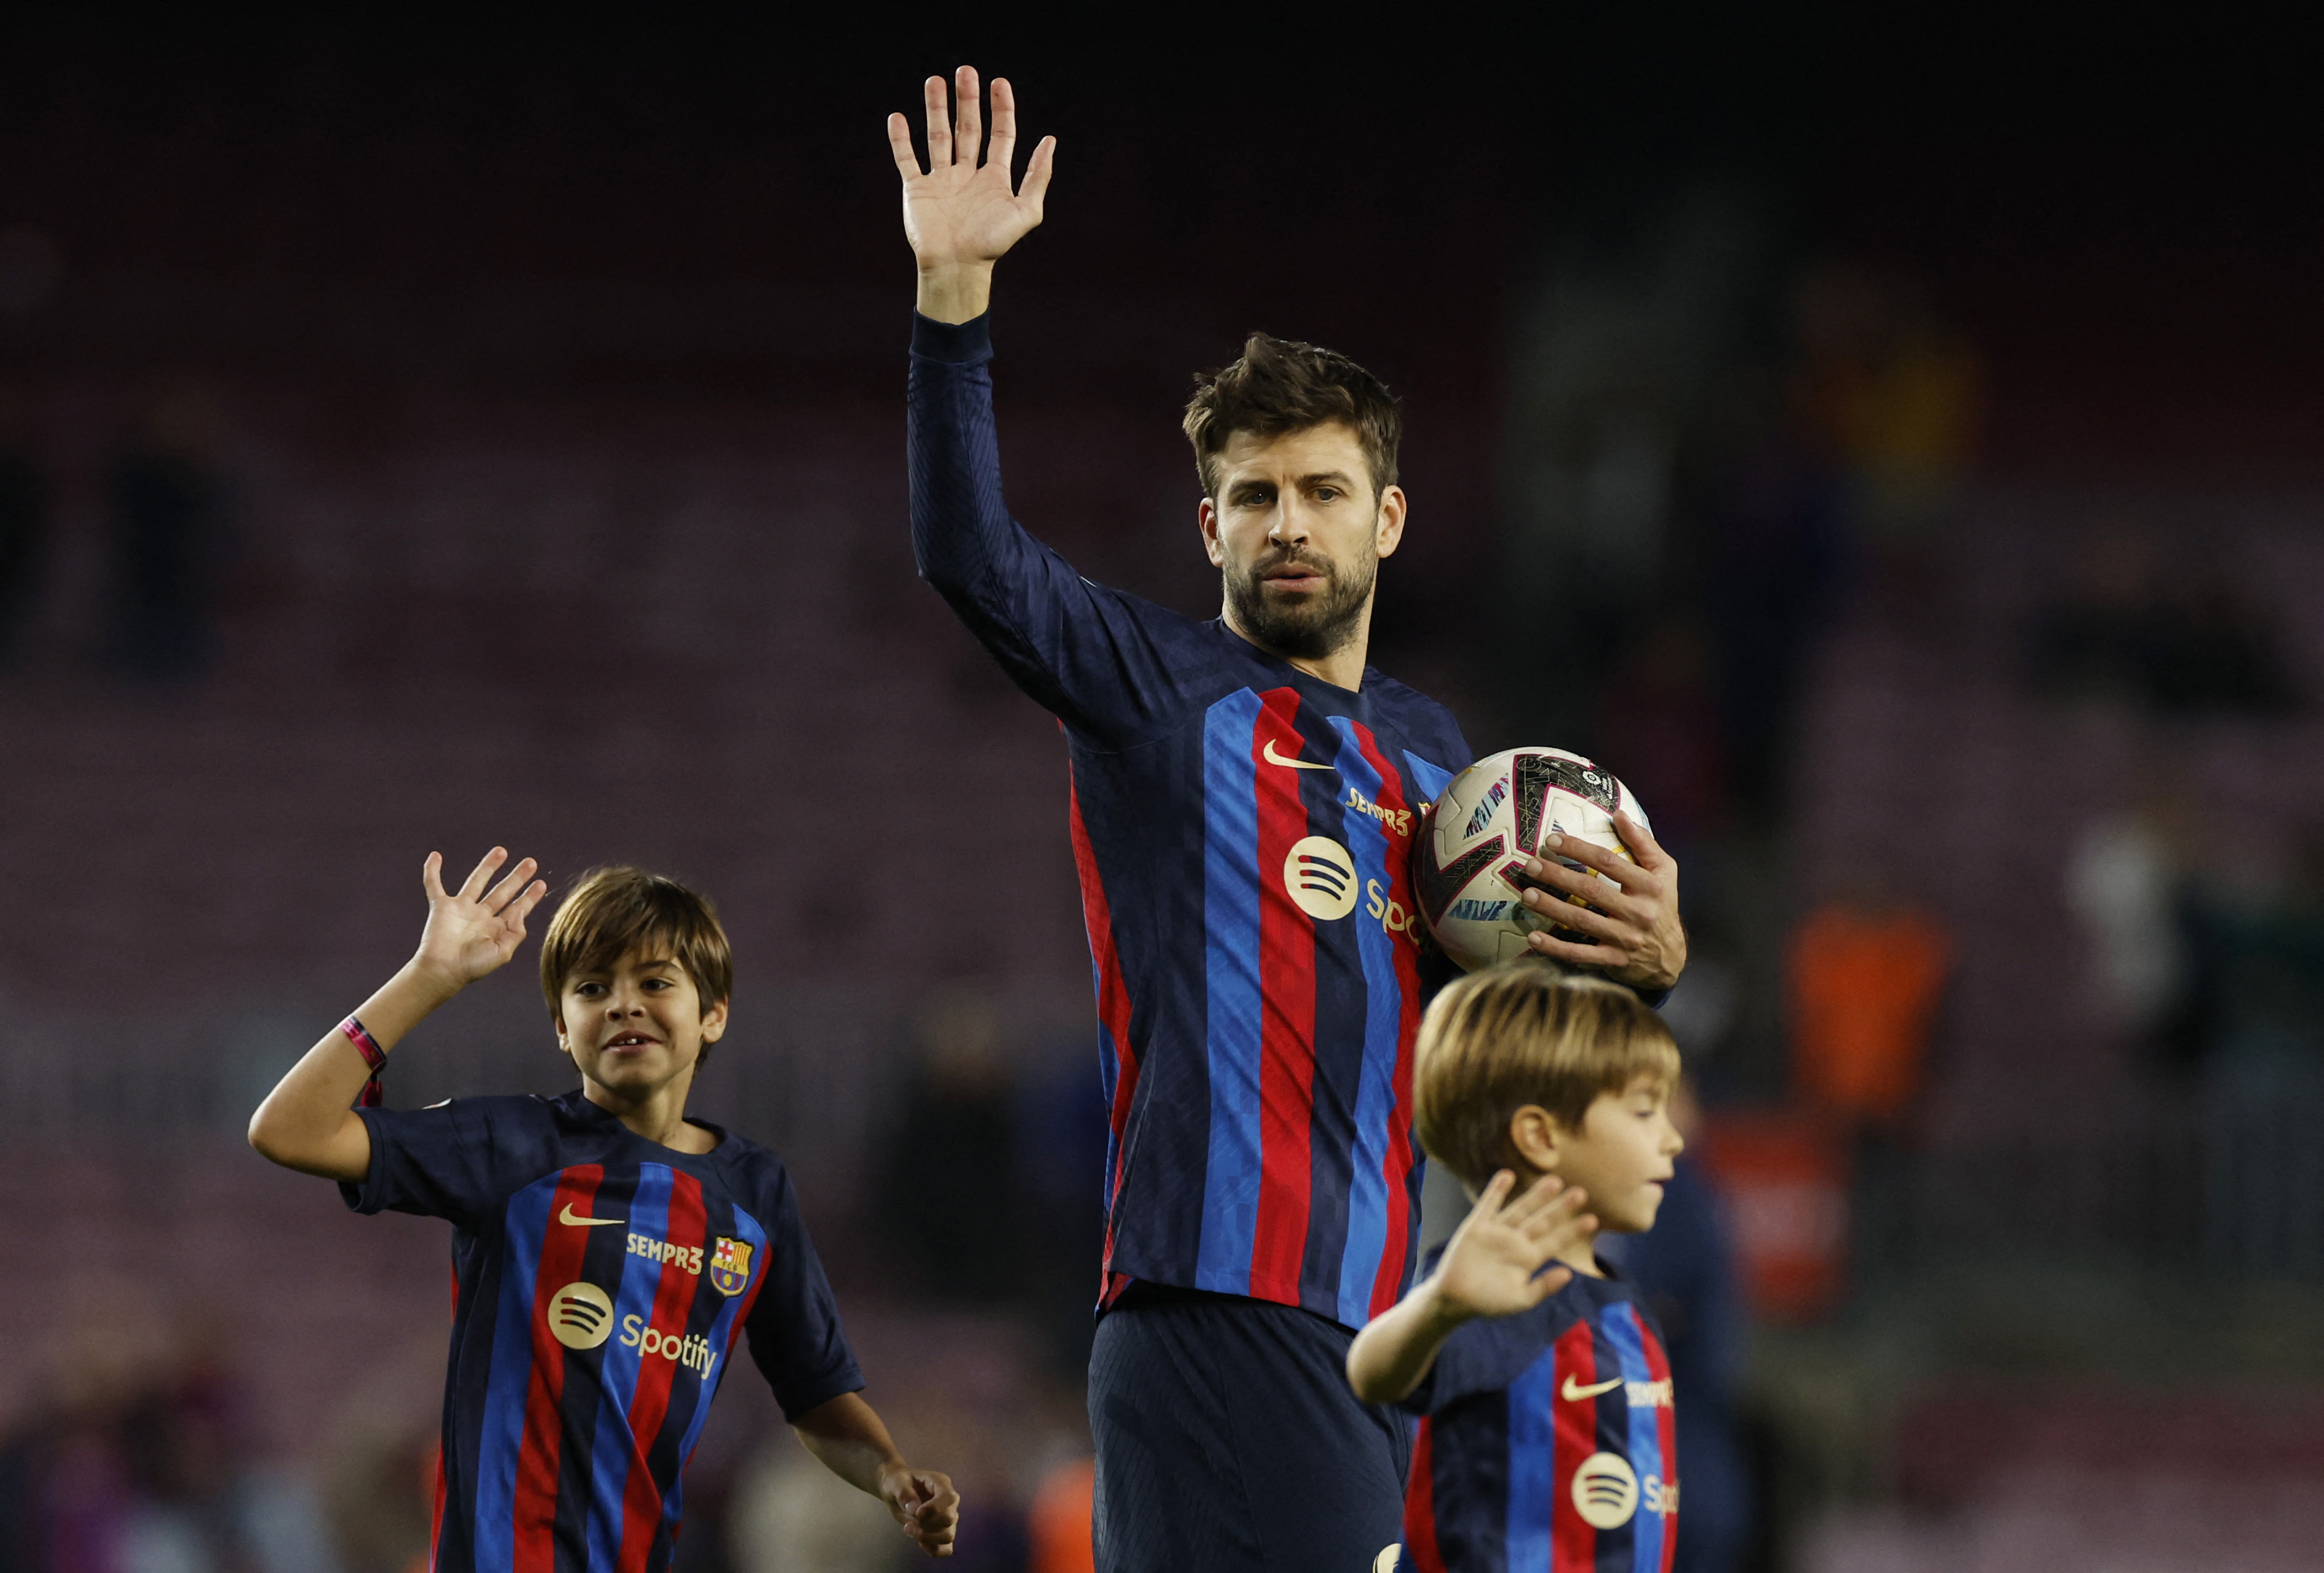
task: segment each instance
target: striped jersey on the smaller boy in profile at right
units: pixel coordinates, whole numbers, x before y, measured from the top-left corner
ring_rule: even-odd
[[[1578,1276],[1522,1315],[1469,1322],[1404,1408],[1420,1415],[1406,1573],[1669,1573],[1671,1362],[1627,1283]]]

